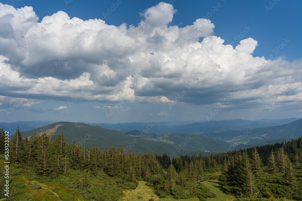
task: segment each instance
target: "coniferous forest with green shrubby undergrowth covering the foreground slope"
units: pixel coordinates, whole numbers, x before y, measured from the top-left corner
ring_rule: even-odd
[[[3,128],[0,133],[3,160]],[[198,197],[206,200],[216,194],[202,182],[217,179],[224,192],[233,194],[237,200],[302,200],[301,137],[209,156],[170,158],[167,154],[125,154],[121,146],[108,149],[67,143],[62,132],[23,138],[17,128],[9,143],[10,197],[4,195],[1,185],[0,198],[37,200],[38,197],[27,195],[25,183],[18,181],[24,178],[25,181],[53,184],[61,200],[119,200],[124,196],[123,190],[135,189],[138,181],[146,181],[147,186],[154,187],[159,198],[172,195],[175,199]],[[1,172],[5,172],[3,166]],[[213,172],[221,174],[208,174]],[[1,175],[1,184],[5,180]],[[40,188],[43,186],[31,186],[31,189]],[[59,191],[60,188],[66,192]]]

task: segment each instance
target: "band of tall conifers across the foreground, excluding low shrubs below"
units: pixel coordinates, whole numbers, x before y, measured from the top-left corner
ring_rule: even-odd
[[[3,128],[0,130],[1,152],[4,144]],[[257,146],[208,156],[169,155],[146,153],[125,154],[123,147],[112,146],[109,151],[95,147],[81,147],[67,143],[64,134],[47,135],[45,132],[22,137],[19,128],[10,141],[10,160],[23,167],[31,166],[38,175],[51,179],[68,176],[69,171],[80,170],[79,187],[85,188],[89,174],[104,172],[112,178],[137,185],[137,180],[147,181],[159,197],[172,195],[177,199],[197,196],[201,200],[215,197],[201,184],[211,179],[207,172],[221,171],[217,179],[226,193],[236,196],[263,198],[302,197],[302,139],[271,145]],[[214,178],[216,179],[216,177]]]

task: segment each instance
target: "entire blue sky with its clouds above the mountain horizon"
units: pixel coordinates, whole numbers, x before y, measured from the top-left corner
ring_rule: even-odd
[[[0,1],[0,122],[301,118],[301,1]]]

